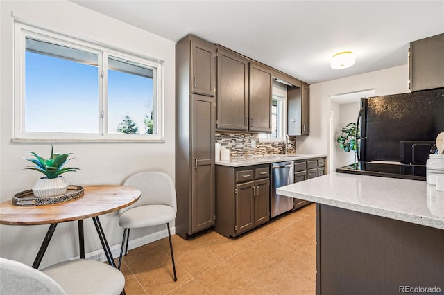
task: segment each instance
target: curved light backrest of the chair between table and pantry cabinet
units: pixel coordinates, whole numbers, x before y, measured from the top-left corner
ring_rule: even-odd
[[[139,172],[131,175],[123,183],[138,188],[142,195],[135,204],[122,208],[120,214],[130,208],[144,205],[169,205],[177,211],[176,188],[167,173],[159,171]]]

